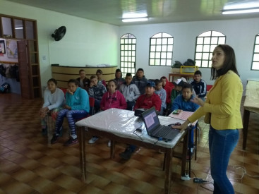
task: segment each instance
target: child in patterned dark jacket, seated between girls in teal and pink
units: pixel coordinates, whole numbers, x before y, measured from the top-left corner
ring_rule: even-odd
[[[106,87],[98,82],[96,75],[92,75],[90,78],[89,96],[95,99],[95,113],[100,110],[100,102],[105,92],[107,92]]]

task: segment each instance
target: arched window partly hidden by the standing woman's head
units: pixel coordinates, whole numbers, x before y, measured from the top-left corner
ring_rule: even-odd
[[[218,44],[225,44],[226,36],[221,32],[207,31],[196,37],[195,56],[196,66],[211,67],[212,52]]]

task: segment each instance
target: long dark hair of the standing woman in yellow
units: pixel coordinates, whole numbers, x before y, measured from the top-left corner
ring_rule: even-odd
[[[234,73],[239,75],[239,72],[236,69],[236,56],[234,49],[227,44],[219,44],[217,47],[224,51],[225,61],[221,69],[216,70],[213,67],[211,68],[211,79],[215,80],[216,78],[219,78],[219,76],[226,74],[229,70],[234,71]]]

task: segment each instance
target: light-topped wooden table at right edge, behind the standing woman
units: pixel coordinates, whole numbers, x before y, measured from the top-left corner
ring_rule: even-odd
[[[243,150],[246,150],[250,112],[259,114],[259,81],[248,80],[246,99],[243,103]]]

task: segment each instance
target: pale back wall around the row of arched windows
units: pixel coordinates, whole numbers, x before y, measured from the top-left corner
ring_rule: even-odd
[[[259,18],[243,20],[214,20],[186,23],[163,23],[155,25],[131,25],[119,28],[119,36],[131,33],[137,38],[136,68],[143,68],[147,78],[160,78],[167,75],[171,67],[148,66],[149,41],[158,32],[167,32],[174,37],[173,61],[194,59],[195,38],[208,30],[215,30],[226,35],[226,44],[234,48],[236,62],[243,85],[249,78],[259,78],[259,71],[251,71],[253,44],[255,35],[259,33]],[[200,68],[203,79],[208,84],[210,68]]]

